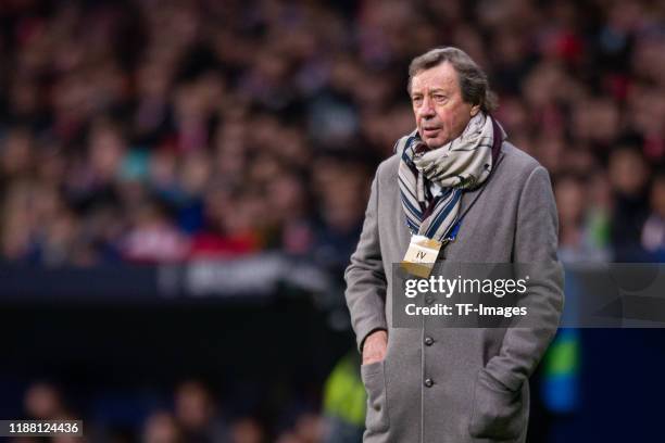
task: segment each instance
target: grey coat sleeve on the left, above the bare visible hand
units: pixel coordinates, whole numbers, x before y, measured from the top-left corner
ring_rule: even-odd
[[[355,331],[357,349],[363,350],[365,338],[379,329],[387,330],[386,274],[381,261],[378,233],[378,172],[372,182],[365,221],[351,264],[344,273],[347,305]]]

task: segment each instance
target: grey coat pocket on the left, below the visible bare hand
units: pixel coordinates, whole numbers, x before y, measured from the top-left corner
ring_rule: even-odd
[[[385,362],[385,360],[384,360]],[[367,391],[367,413],[365,427],[368,431],[388,430],[388,405],[386,404],[386,367],[384,362],[361,366],[361,378]]]

